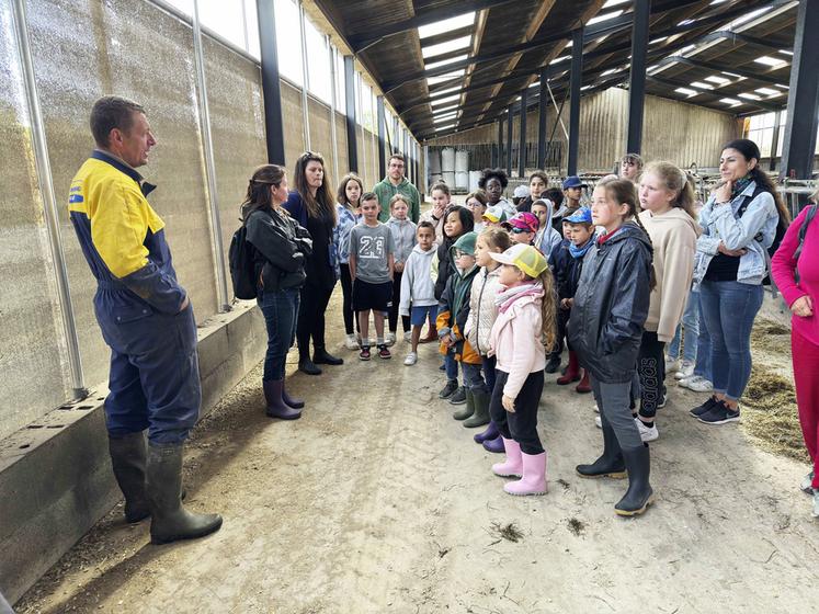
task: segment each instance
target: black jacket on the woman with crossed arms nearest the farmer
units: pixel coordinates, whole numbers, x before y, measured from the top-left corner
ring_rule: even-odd
[[[247,214],[244,225],[248,242],[254,249],[255,278],[263,283],[260,294],[302,287],[305,258],[312,253],[309,232],[286,212],[271,208]]]

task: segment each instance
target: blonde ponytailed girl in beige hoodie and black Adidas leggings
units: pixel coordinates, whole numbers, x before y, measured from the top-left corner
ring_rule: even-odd
[[[652,162],[639,186],[642,223],[653,248],[656,285],[651,289],[637,374],[640,408],[635,424],[642,441],[659,437],[657,409],[666,405],[666,343],[674,338],[691,288],[699,227],[694,218],[694,189],[684,171],[670,162]]]

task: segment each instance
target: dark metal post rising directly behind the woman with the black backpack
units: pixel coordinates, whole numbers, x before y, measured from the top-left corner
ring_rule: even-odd
[[[274,0],[257,0],[259,47],[261,49],[262,94],[264,98],[264,138],[268,162],[284,166],[284,123],[282,122],[282,86],[278,80],[276,16]]]

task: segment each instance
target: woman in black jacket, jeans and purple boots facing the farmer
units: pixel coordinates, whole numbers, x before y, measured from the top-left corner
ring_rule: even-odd
[[[257,302],[268,328],[262,386],[271,418],[296,420],[304,401],[291,397],[284,386],[287,351],[296,337],[299,291],[305,283],[305,258],[310,236],[282,207],[287,200],[285,170],[276,164],[259,167],[242,203],[247,241],[252,246]]]

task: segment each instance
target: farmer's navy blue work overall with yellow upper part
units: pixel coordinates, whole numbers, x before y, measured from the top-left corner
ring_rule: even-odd
[[[153,189],[133,168],[94,151],[69,192],[69,212],[96,277],[94,312],[111,348],[109,433],[148,429],[152,443],[180,443],[198,418],[202,391],[193,307],[181,309],[164,223]]]

